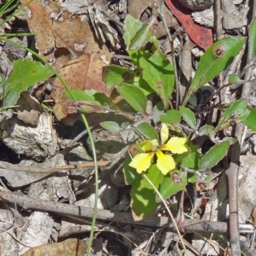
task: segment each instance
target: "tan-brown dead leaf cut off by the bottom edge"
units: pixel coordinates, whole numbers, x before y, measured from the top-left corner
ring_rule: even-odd
[[[24,253],[23,255],[24,256],[32,256],[32,255],[83,256],[84,253],[86,252],[86,248],[87,248],[87,244],[84,243],[84,241],[81,241],[76,238],[70,238],[61,243],[51,243],[51,244],[36,246],[35,248],[32,248],[28,252]]]

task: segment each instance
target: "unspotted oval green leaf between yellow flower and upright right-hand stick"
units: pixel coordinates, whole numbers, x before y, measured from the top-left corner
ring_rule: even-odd
[[[202,157],[201,168],[210,169],[218,164],[223,157],[227,155],[229,148],[228,141],[223,141],[220,144],[214,145],[210,150]]]

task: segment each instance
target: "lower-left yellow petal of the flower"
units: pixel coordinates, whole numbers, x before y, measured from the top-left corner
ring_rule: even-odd
[[[129,166],[135,168],[138,173],[146,172],[151,165],[154,154],[154,152],[138,154],[133,157]]]

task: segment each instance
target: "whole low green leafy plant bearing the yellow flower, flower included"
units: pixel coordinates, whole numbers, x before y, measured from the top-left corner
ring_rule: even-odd
[[[134,129],[140,136],[132,145],[124,160],[124,175],[127,184],[131,184],[131,209],[136,220],[145,218],[154,212],[161,203],[156,191],[149,184],[154,184],[165,199],[186,188],[188,182],[196,180],[207,182],[211,168],[227,155],[230,145],[236,142],[232,137],[220,140],[218,132],[230,124],[244,122],[256,131],[256,111],[247,105],[245,99],[219,105],[222,111],[217,125],[198,127],[195,113],[186,107],[191,96],[205,83],[225,70],[243,47],[245,38],[234,36],[223,38],[205,51],[196,68],[193,81],[178,109],[169,109],[173,97],[175,79],[173,65],[167,60],[154,37],[156,18],[152,17],[143,24],[140,20],[127,15],[125,19],[126,51],[134,65],[124,68],[117,65],[104,67],[102,79],[107,86],[119,93],[120,97],[131,106],[129,113],[120,110],[118,102],[111,97],[95,91],[81,92],[84,99],[76,106],[86,113],[118,113],[134,121],[132,125],[118,122],[102,122],[100,125],[109,131]],[[249,48],[255,47],[255,20],[250,28]],[[250,52],[255,52],[250,50]],[[231,83],[243,83],[239,76],[232,74]],[[149,95],[156,94],[159,102],[154,102],[153,113],[147,113]],[[80,97],[81,99],[81,97]],[[152,98],[150,98],[152,99]],[[132,117],[133,116],[133,117]],[[138,118],[138,116],[140,118]],[[150,124],[154,124],[154,127]],[[159,126],[160,124],[160,126]],[[155,127],[157,127],[155,129]],[[157,130],[160,129],[159,132]],[[197,145],[189,138],[207,136],[214,146],[202,154]],[[132,141],[128,141],[132,143]],[[147,176],[147,179],[145,179]]]

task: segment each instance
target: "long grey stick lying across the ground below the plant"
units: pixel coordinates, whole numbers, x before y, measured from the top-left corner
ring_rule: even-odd
[[[71,216],[78,216],[82,218],[92,218],[93,208],[83,207],[77,205],[60,204],[58,202],[41,200],[29,196],[22,195],[22,193],[8,193],[0,191],[0,198],[4,202],[18,204],[23,209],[38,209],[41,211],[51,211],[58,214],[68,214]],[[97,220],[104,221],[117,221],[120,223],[127,223],[132,225],[143,225],[148,227],[163,227],[174,229],[176,226],[170,218],[149,216],[145,220],[135,221],[129,212],[111,212],[108,210],[98,209]],[[254,232],[252,224],[240,224],[241,233]],[[185,220],[184,229],[187,231],[198,232],[213,232],[218,234],[228,234],[228,223],[220,221],[198,221],[198,220]]]

